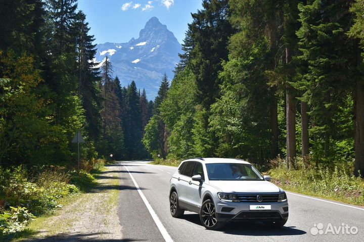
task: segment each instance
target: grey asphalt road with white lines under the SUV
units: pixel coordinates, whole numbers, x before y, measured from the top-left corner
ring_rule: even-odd
[[[290,215],[284,228],[239,222],[229,223],[220,231],[206,230],[198,214],[185,212],[181,218],[172,218],[169,213],[169,179],[175,167],[143,161],[120,162],[119,165],[118,214],[124,241],[363,241],[362,207],[320,201],[291,192],[287,193]],[[350,232],[346,225],[356,234],[346,234],[346,230]]]

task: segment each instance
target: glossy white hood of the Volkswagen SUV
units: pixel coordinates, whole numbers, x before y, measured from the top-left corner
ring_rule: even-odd
[[[222,192],[279,192],[280,188],[269,181],[209,181]]]

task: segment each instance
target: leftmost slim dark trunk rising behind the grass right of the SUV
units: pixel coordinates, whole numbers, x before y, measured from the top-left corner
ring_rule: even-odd
[[[277,104],[277,98],[275,95],[276,91],[275,88],[272,91],[273,98],[270,103],[270,136],[271,136],[271,154],[272,157],[277,157],[279,153],[278,149],[278,104]]]

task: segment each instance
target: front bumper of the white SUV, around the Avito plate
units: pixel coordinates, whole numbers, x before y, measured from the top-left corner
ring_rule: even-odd
[[[270,205],[270,210],[250,210],[250,205]],[[231,210],[232,209],[232,210]],[[229,211],[230,212],[226,212]],[[232,203],[216,204],[216,219],[229,221],[283,221],[288,219],[288,202],[281,203]]]

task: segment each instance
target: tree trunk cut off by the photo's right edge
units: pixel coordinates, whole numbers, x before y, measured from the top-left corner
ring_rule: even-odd
[[[356,81],[355,93],[355,170],[356,176],[364,177],[364,80]]]

